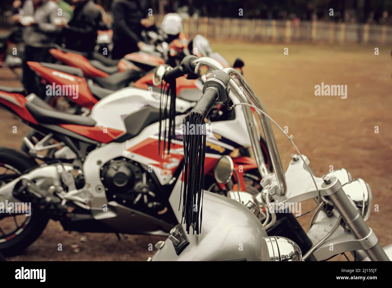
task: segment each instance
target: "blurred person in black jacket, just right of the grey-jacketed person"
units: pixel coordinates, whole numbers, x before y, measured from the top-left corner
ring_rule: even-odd
[[[101,11],[93,0],[73,0],[73,18],[64,27],[65,47],[80,52],[92,53],[96,45],[98,30],[107,30]]]

